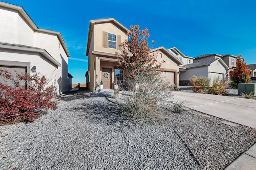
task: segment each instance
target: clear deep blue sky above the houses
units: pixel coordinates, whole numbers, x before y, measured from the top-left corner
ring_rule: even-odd
[[[4,0],[22,6],[34,23],[62,33],[73,83],[86,82],[89,21],[115,18],[125,27],[148,28],[154,48],[177,47],[183,54],[232,54],[256,63],[254,0]]]

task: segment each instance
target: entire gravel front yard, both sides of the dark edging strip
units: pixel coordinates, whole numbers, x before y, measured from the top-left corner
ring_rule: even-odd
[[[62,98],[34,123],[0,127],[0,169],[224,169],[256,142],[255,129],[192,110],[161,120],[132,121],[102,94]]]

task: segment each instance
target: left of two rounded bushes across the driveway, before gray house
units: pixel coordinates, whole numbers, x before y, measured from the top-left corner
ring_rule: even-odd
[[[210,79],[202,76],[193,76],[192,78],[190,78],[190,83],[193,86],[193,92],[203,93],[207,91],[210,84]]]

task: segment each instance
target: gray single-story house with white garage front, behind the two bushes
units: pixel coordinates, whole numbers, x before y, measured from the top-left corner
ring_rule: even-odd
[[[228,66],[221,58],[209,59],[180,67],[180,85],[187,85],[192,76],[203,76],[207,78],[226,77]]]

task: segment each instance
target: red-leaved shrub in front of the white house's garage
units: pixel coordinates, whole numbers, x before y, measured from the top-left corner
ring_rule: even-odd
[[[0,82],[0,125],[32,122],[42,111],[57,109],[57,102],[52,100],[54,87],[45,87],[45,76],[12,76],[7,70],[0,69],[0,78],[3,81]],[[11,86],[4,83],[6,80],[10,80]]]

